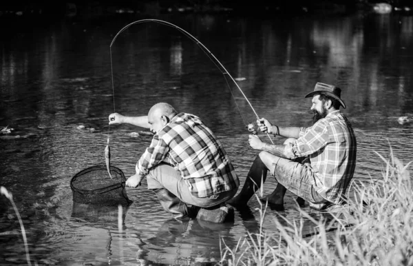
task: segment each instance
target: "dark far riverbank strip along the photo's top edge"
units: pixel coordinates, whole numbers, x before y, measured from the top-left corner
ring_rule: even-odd
[[[101,17],[159,17],[162,14],[225,14],[242,17],[339,15],[375,12],[369,1],[14,1],[0,6],[0,19],[94,19]],[[389,5],[390,6],[390,5]],[[408,14],[410,8],[399,1],[392,12]]]

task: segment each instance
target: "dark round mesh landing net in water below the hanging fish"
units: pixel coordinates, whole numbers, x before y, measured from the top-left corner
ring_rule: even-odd
[[[132,201],[126,194],[125,174],[112,165],[110,172],[112,178],[107,173],[106,165],[96,165],[78,172],[70,181],[73,201],[101,206],[130,205]]]

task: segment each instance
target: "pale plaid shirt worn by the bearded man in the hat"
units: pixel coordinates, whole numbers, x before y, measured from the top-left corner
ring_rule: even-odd
[[[346,116],[337,110],[312,127],[301,127],[299,138],[286,151],[291,158],[308,156],[317,192],[332,203],[342,203],[354,174],[357,154],[356,137]]]

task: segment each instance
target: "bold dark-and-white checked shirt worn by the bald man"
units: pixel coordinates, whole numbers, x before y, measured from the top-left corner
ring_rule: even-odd
[[[136,164],[136,172],[146,175],[162,162],[180,171],[193,196],[199,198],[237,190],[240,185],[224,147],[193,114],[177,114],[153,136]]]

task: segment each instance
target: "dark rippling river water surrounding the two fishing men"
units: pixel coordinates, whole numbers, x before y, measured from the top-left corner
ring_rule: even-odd
[[[122,227],[117,207],[73,203],[72,176],[105,162],[108,136],[112,165],[127,177],[151,141],[142,128],[108,127],[114,111],[146,115],[165,101],[197,114],[218,135],[244,183],[257,155],[248,146],[246,123],[256,113],[281,126],[310,125],[304,95],[320,81],[343,90],[342,112],[358,141],[354,180],[381,178],[377,153],[389,158],[392,150],[404,163],[412,161],[412,124],[398,119],[413,116],[413,17],[156,19],[182,28],[211,54],[177,28],[153,21],[131,25],[111,45],[120,29],[139,18],[3,24],[0,125],[14,130],[0,135],[0,185],[19,209],[33,263],[209,265],[220,260],[222,239],[234,247],[259,229],[255,198],[235,210],[233,223],[177,223],[145,181],[127,188],[134,203],[123,209]],[[264,194],[275,185],[268,178]],[[299,218],[293,198],[286,195],[280,212],[289,221]],[[24,264],[19,221],[10,201],[0,199],[0,264]],[[277,212],[268,209],[268,232],[276,230],[275,218]],[[304,231],[312,230],[306,223]]]

